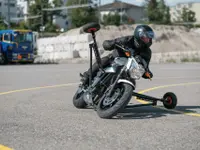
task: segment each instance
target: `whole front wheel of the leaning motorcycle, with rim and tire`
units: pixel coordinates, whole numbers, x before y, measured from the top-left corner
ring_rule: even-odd
[[[133,87],[127,83],[117,84],[111,97],[105,93],[97,106],[97,114],[100,118],[110,119],[121,111],[130,101]]]

